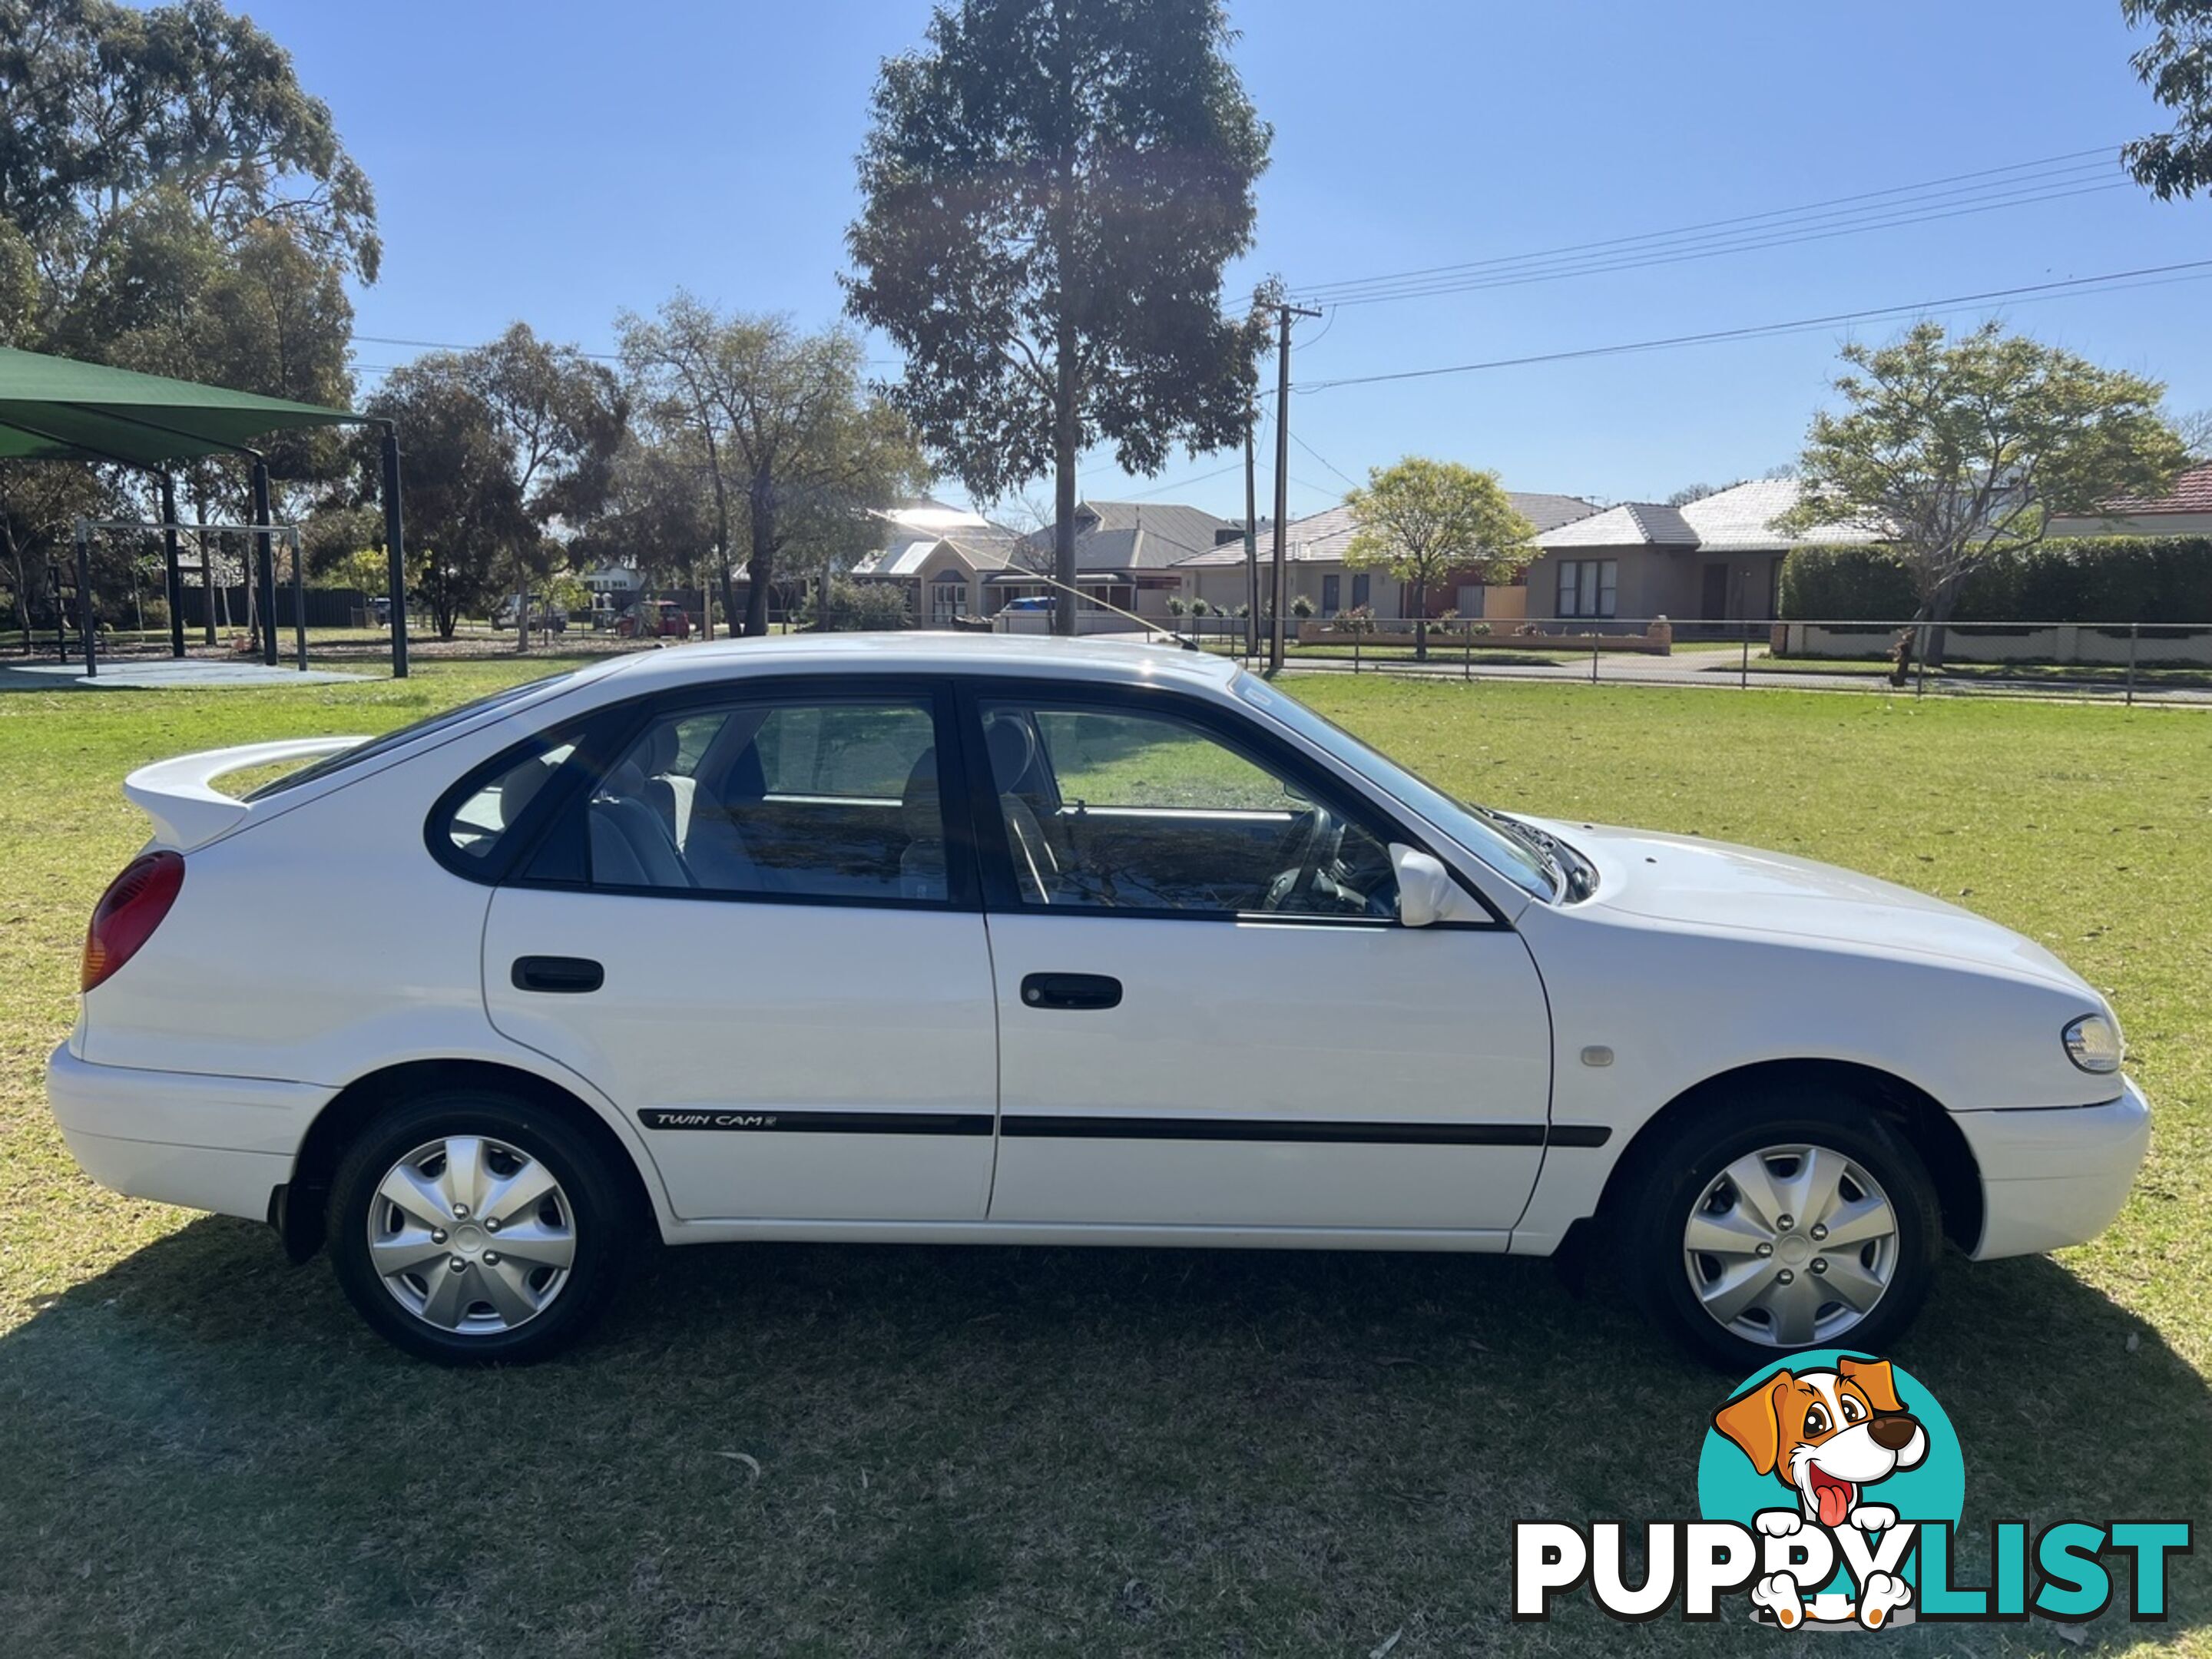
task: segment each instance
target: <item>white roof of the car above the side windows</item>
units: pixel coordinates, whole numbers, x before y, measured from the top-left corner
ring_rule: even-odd
[[[790,633],[664,646],[622,661],[606,686],[624,695],[748,675],[1004,675],[1102,684],[1175,684],[1219,690],[1237,664],[1203,650],[1119,639],[971,633]]]

